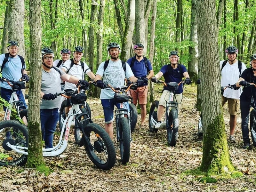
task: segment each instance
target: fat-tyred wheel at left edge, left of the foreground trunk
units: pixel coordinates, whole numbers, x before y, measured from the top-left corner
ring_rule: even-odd
[[[28,147],[28,130],[18,121],[6,120],[0,122],[0,165],[17,166],[27,162],[27,155],[23,155],[7,146]],[[25,149],[20,149],[25,151]]]

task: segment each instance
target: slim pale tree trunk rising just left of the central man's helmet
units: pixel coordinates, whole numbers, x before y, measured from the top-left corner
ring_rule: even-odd
[[[99,68],[102,62],[102,44],[103,44],[103,18],[104,18],[105,0],[100,0],[100,10],[98,16],[99,31],[97,33],[97,66]],[[94,97],[100,97],[100,88],[94,88]]]

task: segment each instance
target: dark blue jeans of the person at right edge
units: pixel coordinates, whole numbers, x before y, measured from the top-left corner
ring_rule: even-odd
[[[256,103],[256,100],[254,100],[254,103]],[[240,100],[240,110],[241,110],[241,119],[242,119],[241,127],[242,127],[244,143],[250,143],[248,122],[249,122],[250,108],[251,106],[255,108],[254,103],[253,103],[253,100],[251,101]]]

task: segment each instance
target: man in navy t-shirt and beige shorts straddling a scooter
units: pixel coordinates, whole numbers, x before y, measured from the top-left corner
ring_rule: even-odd
[[[182,77],[186,77],[186,80],[185,80],[186,84],[191,84],[191,80],[189,79],[189,75],[186,67],[178,63],[179,55],[177,51],[170,52],[169,60],[170,60],[170,64],[164,65],[160,69],[160,71],[154,77],[151,78],[151,81],[156,83],[156,80],[158,78],[160,78],[161,76],[164,76],[165,83],[169,83],[169,82],[180,83],[180,81],[182,81]],[[179,111],[181,100],[182,100],[182,92],[183,92],[183,88],[182,88],[182,84],[180,84],[178,90],[175,91],[175,98],[173,98],[178,103],[178,111]],[[161,119],[164,114],[166,100],[169,100],[169,95],[170,93],[165,87],[157,108],[157,123],[155,126],[156,129],[158,129],[162,124]]]

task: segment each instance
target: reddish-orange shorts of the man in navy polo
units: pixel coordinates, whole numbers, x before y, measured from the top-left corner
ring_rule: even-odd
[[[131,90],[130,95],[133,99],[133,104],[137,105],[137,101],[139,99],[140,105],[147,104],[147,96],[148,96],[148,85],[143,87],[138,87],[137,90]]]

